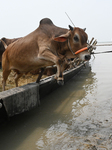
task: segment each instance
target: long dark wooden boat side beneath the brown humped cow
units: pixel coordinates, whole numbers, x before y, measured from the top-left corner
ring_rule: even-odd
[[[64,72],[64,82],[66,83],[84,68],[85,63],[66,70]],[[56,82],[51,82],[52,77],[42,79],[39,84],[30,83],[0,92],[0,122],[37,107],[44,96],[60,87]]]

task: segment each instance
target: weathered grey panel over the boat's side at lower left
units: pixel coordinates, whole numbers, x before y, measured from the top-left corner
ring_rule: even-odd
[[[39,103],[39,85],[30,83],[0,93],[8,116],[29,111]]]

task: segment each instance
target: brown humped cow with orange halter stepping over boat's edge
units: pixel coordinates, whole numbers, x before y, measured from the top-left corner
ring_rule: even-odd
[[[45,18],[40,21],[35,31],[10,44],[2,57],[3,90],[11,70],[17,73],[15,83],[18,86],[18,79],[23,73],[38,68],[44,70],[46,66],[55,64],[57,66],[55,79],[59,84],[63,84],[65,59],[81,54],[84,59],[90,59],[88,51],[74,55],[74,52],[87,46],[87,34],[83,29],[69,27],[70,30],[57,27],[50,19]],[[41,75],[36,82],[39,82],[40,78]]]

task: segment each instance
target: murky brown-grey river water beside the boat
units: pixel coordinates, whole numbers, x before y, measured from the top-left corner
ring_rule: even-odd
[[[98,47],[98,51],[112,47]],[[112,54],[0,127],[0,150],[112,150]]]

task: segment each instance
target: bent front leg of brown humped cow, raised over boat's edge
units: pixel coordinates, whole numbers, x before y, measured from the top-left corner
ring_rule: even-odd
[[[57,83],[60,85],[64,84],[64,80],[63,80],[63,74],[62,74],[62,70],[61,70],[61,65],[62,65],[62,60],[54,55],[52,52],[45,50],[42,55],[39,55],[38,57],[40,60],[46,60],[49,62],[53,62],[54,64],[56,64],[57,66],[57,73],[56,76],[54,77],[57,80]]]

